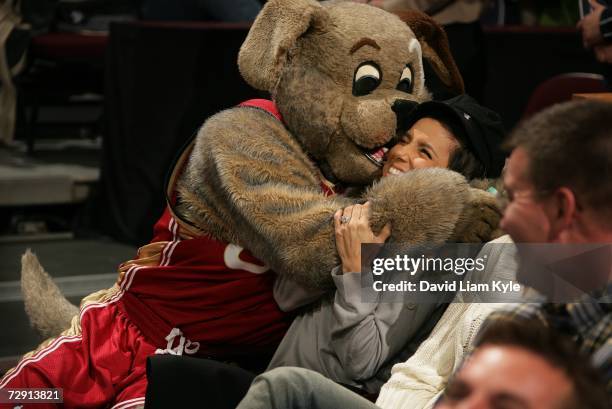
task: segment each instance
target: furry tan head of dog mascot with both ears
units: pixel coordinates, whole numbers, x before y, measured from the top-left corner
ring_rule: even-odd
[[[423,58],[456,92],[463,83],[446,35],[419,12],[365,4],[270,0],[238,56],[327,175],[365,184],[379,175],[398,116],[429,99]]]

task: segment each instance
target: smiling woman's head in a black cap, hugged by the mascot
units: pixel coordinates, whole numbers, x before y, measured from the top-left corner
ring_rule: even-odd
[[[504,165],[499,115],[467,95],[425,102],[400,117],[398,129],[383,176],[446,167],[468,179],[498,177]]]

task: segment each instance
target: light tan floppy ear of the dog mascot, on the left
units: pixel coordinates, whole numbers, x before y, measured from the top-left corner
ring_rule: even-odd
[[[269,0],[240,47],[240,73],[252,87],[272,91],[298,38],[327,20],[327,11],[314,0]]]

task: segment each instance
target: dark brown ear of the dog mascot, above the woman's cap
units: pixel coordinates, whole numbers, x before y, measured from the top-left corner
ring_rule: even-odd
[[[423,58],[427,59],[440,80],[457,94],[463,94],[463,78],[453,59],[448,37],[442,26],[425,13],[417,10],[393,11],[416,35],[421,43]]]

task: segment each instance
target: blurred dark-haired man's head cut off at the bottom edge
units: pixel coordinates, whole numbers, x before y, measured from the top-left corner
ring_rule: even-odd
[[[601,375],[588,362],[539,322],[494,321],[436,408],[607,408]]]

